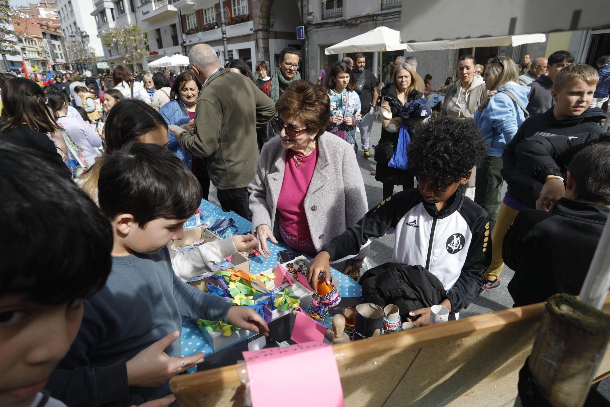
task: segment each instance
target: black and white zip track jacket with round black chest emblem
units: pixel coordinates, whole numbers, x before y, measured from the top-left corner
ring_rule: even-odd
[[[491,262],[492,242],[486,211],[464,196],[459,186],[439,211],[408,189],[381,202],[364,218],[326,244],[331,263],[356,256],[371,240],[396,233],[393,263],[421,265],[447,290],[451,312],[470,304]]]

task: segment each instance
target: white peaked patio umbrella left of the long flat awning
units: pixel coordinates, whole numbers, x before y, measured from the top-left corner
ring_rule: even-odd
[[[338,44],[329,46],[326,55],[343,53],[371,53],[374,51],[408,50],[409,44],[400,42],[400,31],[387,27],[378,27],[374,30],[356,35]]]

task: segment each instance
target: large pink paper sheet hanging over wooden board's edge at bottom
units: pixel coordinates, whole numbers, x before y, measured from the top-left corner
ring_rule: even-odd
[[[319,324],[318,324],[319,325]],[[290,386],[276,385],[285,372],[315,378],[324,372],[324,405],[345,407],[343,388],[331,345],[306,342],[289,347],[243,352],[250,381],[253,407],[310,407],[320,403],[308,380],[291,380]],[[295,376],[296,377],[296,376]],[[275,384],[274,384],[275,383]]]

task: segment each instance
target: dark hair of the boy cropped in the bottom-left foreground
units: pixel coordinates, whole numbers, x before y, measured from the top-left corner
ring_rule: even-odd
[[[0,141],[0,191],[0,296],[55,305],[106,284],[112,228],[81,188],[37,151]]]

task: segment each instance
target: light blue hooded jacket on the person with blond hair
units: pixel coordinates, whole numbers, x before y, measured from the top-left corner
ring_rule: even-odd
[[[498,88],[498,90],[506,89],[515,95],[515,98],[520,101],[522,106],[528,105],[529,87],[509,82]],[[507,94],[502,92],[493,95],[485,109],[483,109],[483,112],[476,109],[475,123],[481,131],[481,136],[485,138],[490,147],[487,155],[501,157],[504,147],[517,134],[517,130],[519,130],[523,120],[525,120],[523,109],[517,106],[517,103],[512,101]]]

